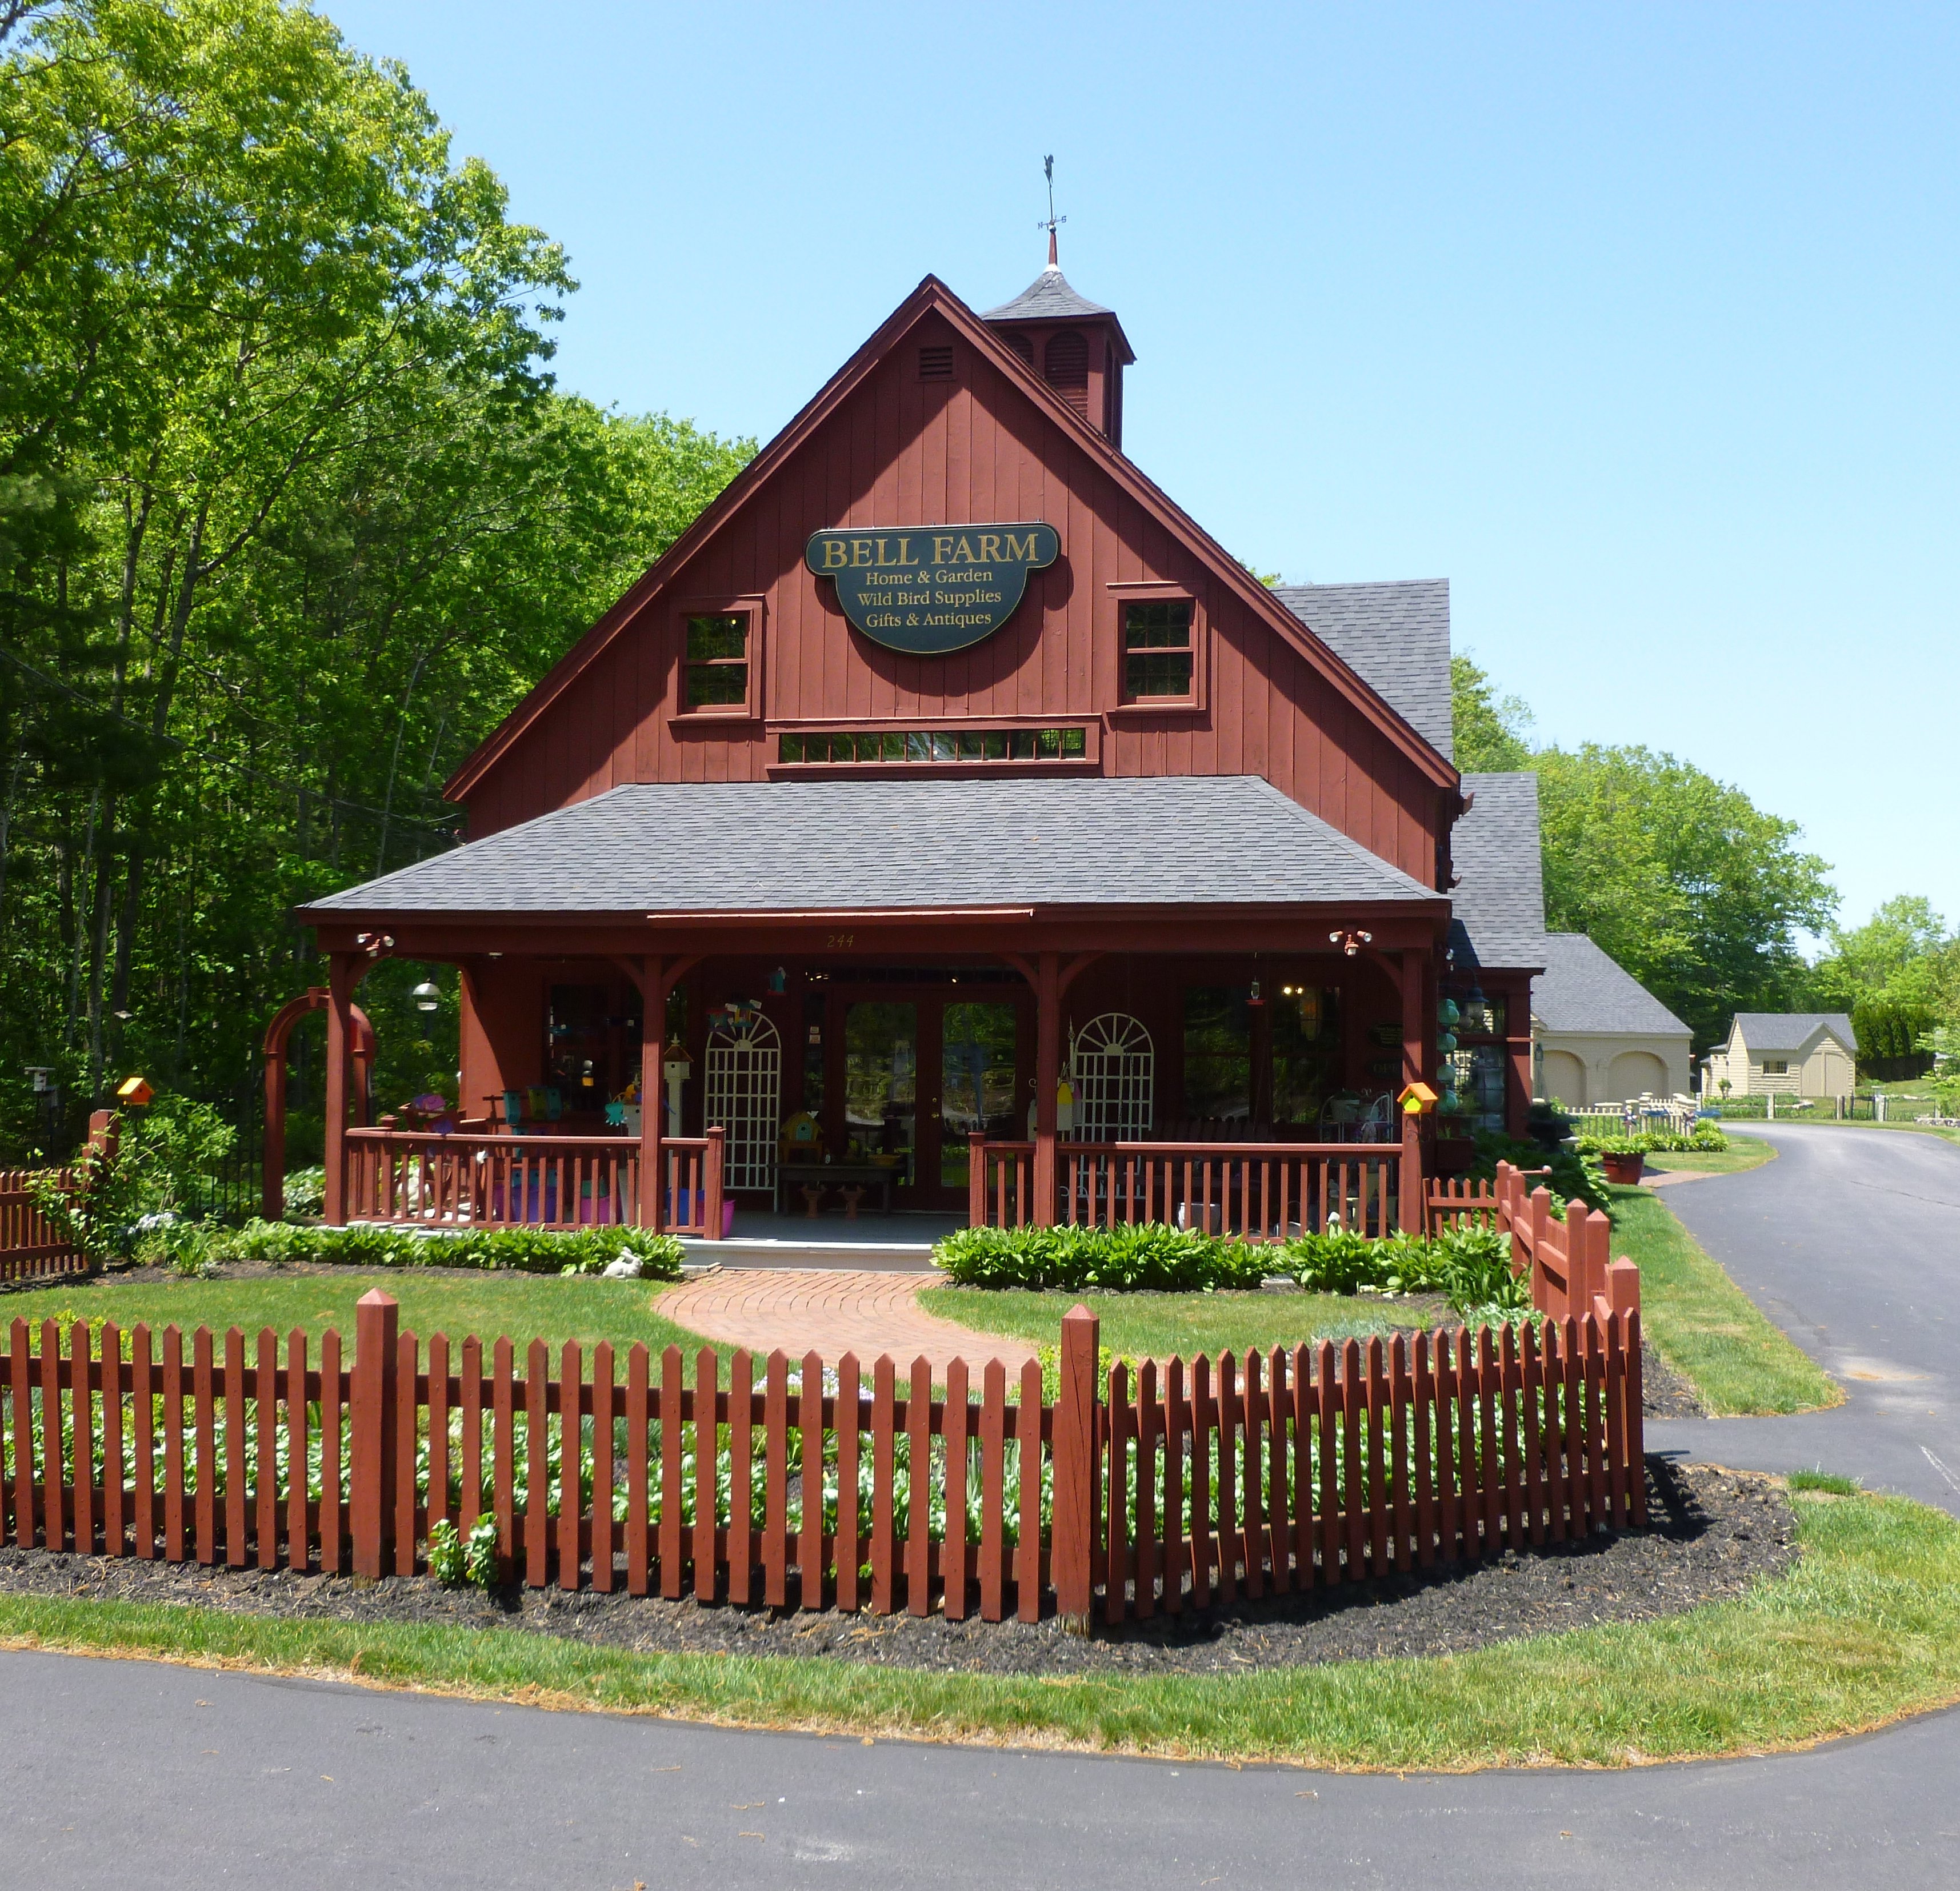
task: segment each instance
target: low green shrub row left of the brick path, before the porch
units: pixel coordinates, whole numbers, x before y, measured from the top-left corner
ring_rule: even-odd
[[[510,1268],[517,1274],[598,1274],[621,1254],[639,1260],[645,1278],[680,1280],[684,1248],[672,1235],[647,1229],[465,1229],[455,1235],[419,1229],[296,1227],[290,1221],[247,1221],[241,1229],[212,1229],[198,1260],[296,1260],[347,1268]]]

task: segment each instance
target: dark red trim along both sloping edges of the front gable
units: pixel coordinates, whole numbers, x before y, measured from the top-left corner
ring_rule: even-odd
[[[925,276],[919,286],[878,325],[876,333],[817,390],[817,394],[733,480],[704,508],[702,515],[649,566],[598,623],[586,631],[537,682],[529,696],[484,739],[476,752],[449,778],[445,800],[463,800],[517,743],[566,686],[659,596],[666,580],[678,572],[717,531],[721,531],[790,461],[798,447],[837,412],[858,384],[904,341],[909,329],[927,314],[941,315],[968,347],[984,353],[1004,374],[1015,380],[1049,419],[1068,433],[1084,453],[1102,464],[1139,506],[1151,511],[1164,531],[1192,557],[1203,562],[1211,576],[1233,590],[1239,600],[1282,643],[1313,664],[1348,702],[1354,703],[1423,774],[1439,788],[1456,786],[1450,760],[1423,739],[1401,713],[1374,690],[1319,637],[1305,633],[1299,619],[1258,582],[1223,545],[1217,543],[1182,506],[1154,480],[1076,413],[1007,343],[982,321],[945,282]]]

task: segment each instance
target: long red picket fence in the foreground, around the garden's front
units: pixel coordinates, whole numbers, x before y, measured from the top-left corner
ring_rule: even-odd
[[[951,1619],[1109,1621],[1341,1583],[1644,1523],[1639,1313],[1537,1333],[1350,1340],[1117,1366],[1062,1325],[1060,1387],[855,1356],[659,1360],[437,1334],[396,1305],[341,1340],[270,1331],[0,1354],[0,1538],[231,1568],[425,1568],[431,1525],[494,1519],[531,1587]],[[725,1493],[723,1493],[725,1485]],[[598,1493],[600,1501],[594,1501]]]

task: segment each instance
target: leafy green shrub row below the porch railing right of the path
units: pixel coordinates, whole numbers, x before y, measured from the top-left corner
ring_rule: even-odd
[[[1458,1313],[1529,1305],[1511,1240],[1494,1229],[1368,1240],[1331,1229],[1294,1240],[1221,1240],[1164,1223],[1115,1229],[960,1229],[933,1266],[962,1287],[1070,1293],[1215,1293],[1286,1276],[1315,1293],[1443,1293]]]

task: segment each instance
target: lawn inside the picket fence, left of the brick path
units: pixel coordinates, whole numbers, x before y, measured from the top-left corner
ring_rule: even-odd
[[[700,1334],[684,1333],[653,1311],[655,1297],[666,1285],[657,1280],[563,1280],[435,1268],[349,1268],[345,1274],[263,1274],[155,1285],[108,1276],[0,1293],[0,1325],[49,1315],[61,1321],[100,1317],[114,1319],[123,1329],[137,1321],[163,1329],[174,1321],[186,1333],[192,1327],[212,1327],[218,1333],[241,1327],[247,1334],[257,1334],[261,1327],[270,1327],[280,1338],[302,1327],[316,1340],[327,1327],[335,1327],[353,1344],[355,1301],[380,1287],[402,1303],[402,1329],[423,1342],[423,1360],[431,1333],[447,1333],[453,1340],[474,1333],[486,1342],[510,1334],[519,1356],[533,1338],[551,1340],[553,1346],[563,1340],[612,1340],[621,1354],[635,1340],[645,1340],[655,1352],[674,1344],[692,1354],[702,1344]]]

